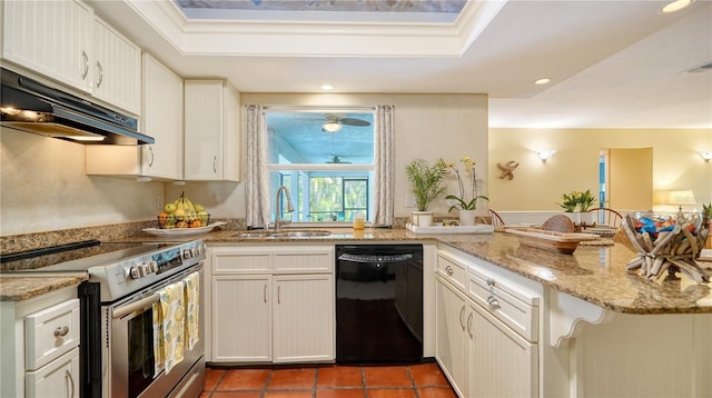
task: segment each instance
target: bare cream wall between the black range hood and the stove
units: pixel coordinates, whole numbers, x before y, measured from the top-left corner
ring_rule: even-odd
[[[162,183],[89,177],[85,146],[0,129],[0,233],[150,219]]]

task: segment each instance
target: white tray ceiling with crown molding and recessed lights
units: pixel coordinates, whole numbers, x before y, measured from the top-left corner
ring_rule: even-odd
[[[712,71],[686,72],[712,61],[710,0],[673,14],[636,0],[468,1],[458,13],[396,9],[461,3],[447,0],[191,1],[186,13],[89,2],[181,76],[243,92],[487,93],[492,127],[712,128]],[[327,4],[393,9],[314,9]]]

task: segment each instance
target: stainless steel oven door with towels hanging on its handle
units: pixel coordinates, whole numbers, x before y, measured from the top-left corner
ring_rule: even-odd
[[[154,312],[152,305],[157,302],[156,292],[161,288],[182,280],[194,271],[200,275],[199,295],[202,292],[202,265],[190,268],[171,279],[166,280],[134,297],[109,306],[107,318],[110,325],[105,356],[108,371],[105,377],[105,396],[112,398],[135,397],[168,397],[171,390],[196,365],[199,376],[204,376],[205,345],[202,336],[202,299],[199,298],[199,340],[192,350],[184,351],[184,360],[176,365],[170,372],[161,370],[155,374],[156,357],[154,354]],[[198,296],[199,297],[199,296]],[[105,335],[106,336],[106,335]],[[108,378],[108,380],[107,380]],[[202,378],[200,378],[200,382]],[[107,394],[108,392],[108,394]]]

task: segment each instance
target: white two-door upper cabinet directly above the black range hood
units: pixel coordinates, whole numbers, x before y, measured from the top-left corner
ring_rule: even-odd
[[[2,58],[91,94],[141,111],[141,50],[78,0],[3,1]]]

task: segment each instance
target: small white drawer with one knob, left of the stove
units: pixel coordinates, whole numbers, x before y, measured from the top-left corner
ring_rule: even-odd
[[[79,299],[24,318],[24,367],[38,369],[79,346]]]

